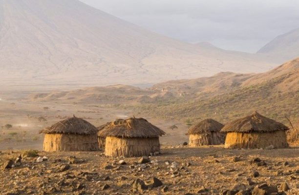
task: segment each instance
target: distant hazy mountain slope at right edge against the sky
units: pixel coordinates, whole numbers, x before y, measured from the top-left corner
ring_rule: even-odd
[[[283,62],[299,57],[299,29],[295,29],[283,35],[279,35],[262,47],[258,52],[265,56],[271,56]]]

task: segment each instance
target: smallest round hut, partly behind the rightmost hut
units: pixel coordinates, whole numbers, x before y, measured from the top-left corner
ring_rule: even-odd
[[[189,135],[189,145],[196,147],[224,144],[225,134],[220,133],[223,126],[223,124],[212,118],[205,119],[191,126],[187,133]]]

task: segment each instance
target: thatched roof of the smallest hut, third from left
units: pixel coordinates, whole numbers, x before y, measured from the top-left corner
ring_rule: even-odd
[[[187,134],[203,134],[207,132],[219,132],[224,125],[212,118],[205,119],[191,126]]]

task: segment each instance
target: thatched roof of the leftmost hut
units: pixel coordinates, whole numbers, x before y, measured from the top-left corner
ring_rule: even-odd
[[[93,135],[98,130],[95,126],[82,118],[71,117],[60,121],[50,127],[44,128],[40,133],[44,134],[76,134],[76,135]]]

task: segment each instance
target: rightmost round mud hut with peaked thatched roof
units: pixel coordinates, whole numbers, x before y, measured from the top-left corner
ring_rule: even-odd
[[[225,148],[274,148],[288,147],[285,125],[261,116],[253,115],[226,124],[221,132],[227,133]]]

